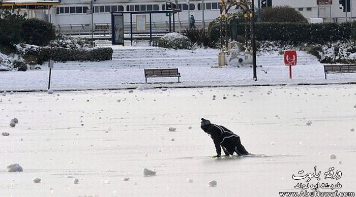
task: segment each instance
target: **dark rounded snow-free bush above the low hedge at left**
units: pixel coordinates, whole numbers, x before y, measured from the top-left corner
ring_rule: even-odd
[[[21,34],[26,44],[46,46],[55,38],[55,29],[50,22],[31,18],[23,22]]]

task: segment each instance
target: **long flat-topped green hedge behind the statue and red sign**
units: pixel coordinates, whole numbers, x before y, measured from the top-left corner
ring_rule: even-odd
[[[287,44],[324,43],[349,40],[356,23],[256,23],[258,41],[281,41]],[[225,36],[223,25],[223,36]],[[239,24],[238,35],[245,36],[245,27],[250,32],[250,24]],[[228,26],[229,29],[229,26]],[[209,25],[209,34],[213,42],[220,39],[220,23],[215,19]],[[229,31],[228,31],[229,32]],[[229,34],[229,33],[228,33]],[[356,33],[354,33],[356,34]]]

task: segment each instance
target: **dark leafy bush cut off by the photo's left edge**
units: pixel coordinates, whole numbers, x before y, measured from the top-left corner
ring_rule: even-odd
[[[20,28],[25,21],[24,16],[15,10],[0,6],[0,45],[14,49],[13,45],[21,42]]]

